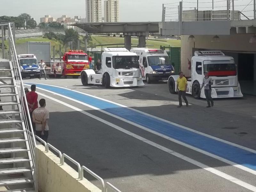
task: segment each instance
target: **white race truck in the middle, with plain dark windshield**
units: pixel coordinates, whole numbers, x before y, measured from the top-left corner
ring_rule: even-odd
[[[101,56],[101,71],[81,72],[83,85],[99,84],[108,87],[143,86],[137,55],[125,48],[105,48]]]

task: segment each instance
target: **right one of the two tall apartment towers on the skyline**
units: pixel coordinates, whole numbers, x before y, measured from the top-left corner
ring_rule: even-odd
[[[104,1],[105,22],[119,22],[119,0]]]

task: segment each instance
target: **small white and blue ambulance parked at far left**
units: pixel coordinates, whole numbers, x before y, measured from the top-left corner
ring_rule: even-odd
[[[36,77],[39,78],[40,67],[34,54],[18,55],[21,78]]]

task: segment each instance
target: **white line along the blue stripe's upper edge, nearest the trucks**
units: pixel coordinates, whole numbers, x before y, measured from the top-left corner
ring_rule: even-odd
[[[48,85],[48,84],[42,84],[42,85]],[[28,85],[28,86],[30,86],[30,85]],[[120,106],[120,107],[129,108],[129,109],[131,109],[131,110],[133,110],[133,111],[136,111],[136,112],[138,112],[138,113],[141,113],[141,114],[150,116],[150,117],[155,118],[155,119],[157,119],[157,120],[164,121],[165,123],[169,123],[169,124],[178,126],[178,127],[180,127],[180,128],[186,129],[186,130],[188,130],[188,131],[195,132],[195,133],[197,133],[197,134],[203,135],[203,136],[205,136],[205,137],[208,137],[208,138],[211,138],[211,139],[214,139],[214,140],[221,141],[221,142],[223,142],[223,143],[226,143],[226,144],[232,145],[232,146],[234,146],[234,147],[237,147],[237,148],[241,148],[241,149],[250,151],[250,152],[252,152],[252,153],[256,153],[256,150],[253,150],[253,149],[251,149],[251,148],[247,148],[247,147],[238,145],[238,144],[236,144],[236,143],[232,143],[232,142],[230,142],[230,141],[226,141],[226,140],[223,140],[223,139],[214,137],[214,136],[212,136],[212,135],[208,135],[208,134],[206,134],[206,133],[196,131],[196,130],[194,130],[194,129],[185,127],[185,126],[183,126],[183,125],[173,123],[173,122],[168,121],[168,120],[166,120],[166,119],[162,119],[161,117],[153,116],[153,115],[150,115],[150,114],[148,114],[148,113],[145,113],[145,112],[139,111],[139,110],[137,110],[137,109],[133,109],[133,108],[127,107],[127,106],[125,106],[125,105],[122,105],[122,104],[119,104],[119,103],[116,103],[116,102],[113,102],[113,101],[110,101],[110,100],[106,100],[106,99],[103,99],[103,98],[100,98],[100,97],[97,97],[97,96],[94,96],[94,95],[90,95],[90,94],[87,94],[87,93],[84,93],[84,92],[79,92],[79,91],[76,91],[76,90],[68,89],[68,88],[65,88],[65,87],[60,87],[60,86],[56,86],[56,85],[48,85],[48,86],[66,89],[66,90],[73,91],[73,92],[77,92],[77,93],[80,93],[80,94],[83,94],[83,95],[87,95],[87,96],[90,96],[90,97],[93,97],[93,98],[96,98],[96,99],[99,99],[99,100],[103,100],[103,101],[106,101],[106,102],[109,102],[109,103],[118,105],[118,106]],[[42,90],[43,90],[43,89],[42,89]],[[48,91],[48,90],[44,90],[44,91]],[[127,121],[127,120],[126,120],[126,121]]]

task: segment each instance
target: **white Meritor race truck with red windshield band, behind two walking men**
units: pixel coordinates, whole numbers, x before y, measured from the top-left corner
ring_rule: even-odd
[[[204,71],[212,77],[212,98],[243,97],[237,78],[233,57],[225,56],[221,51],[196,51],[191,60],[191,77],[188,79],[186,92],[194,98],[205,98],[203,84]],[[178,75],[170,76],[168,87],[171,93],[176,92]]]

